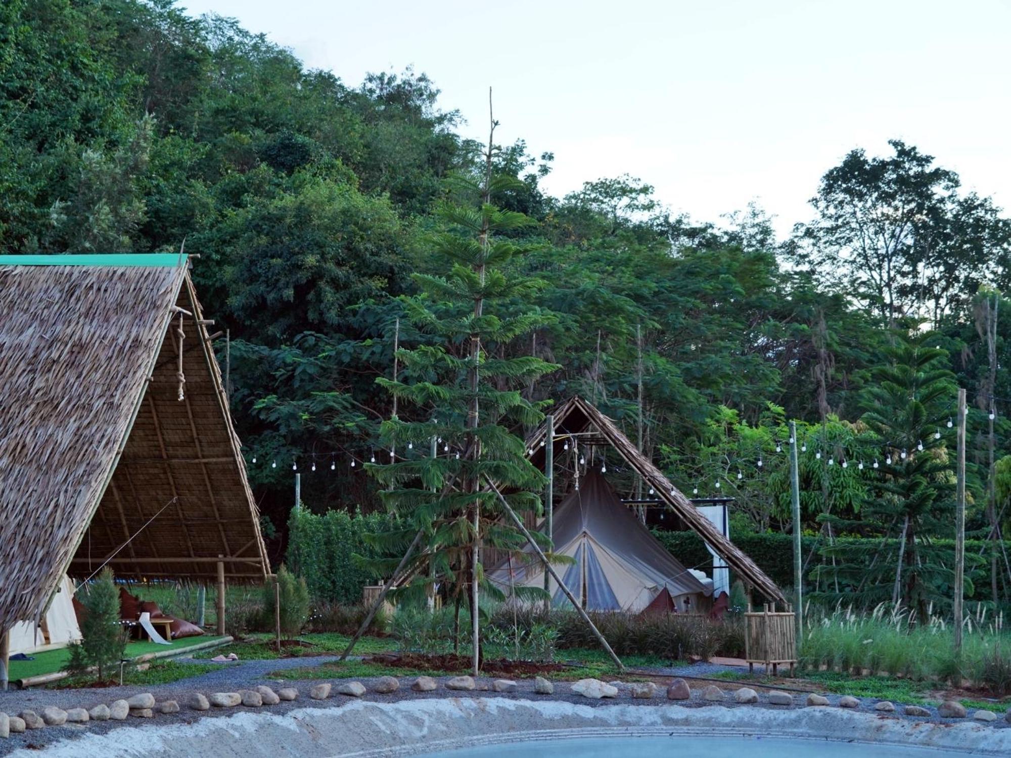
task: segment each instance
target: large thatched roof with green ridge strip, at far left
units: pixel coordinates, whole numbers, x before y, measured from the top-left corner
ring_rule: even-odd
[[[269,572],[187,269],[0,257],[0,631],[106,559],[127,578],[209,580],[219,556],[233,578]]]

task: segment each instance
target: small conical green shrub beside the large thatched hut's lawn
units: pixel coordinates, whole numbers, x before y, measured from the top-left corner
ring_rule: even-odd
[[[111,673],[126,649],[126,628],[119,623],[119,591],[112,581],[112,570],[103,569],[98,579],[86,585],[79,597],[86,613],[81,622],[82,641],[70,649],[68,670],[83,674],[90,667],[98,669],[100,681]]]

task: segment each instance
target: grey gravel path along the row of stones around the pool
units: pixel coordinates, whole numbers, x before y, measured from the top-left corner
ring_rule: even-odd
[[[265,660],[265,661],[240,661],[234,664],[227,664],[225,668],[208,671],[205,674],[199,676],[190,677],[188,679],[183,679],[178,682],[173,682],[171,684],[164,684],[158,686],[124,686],[124,687],[108,687],[103,689],[62,689],[62,690],[52,690],[52,689],[32,689],[32,690],[13,690],[9,692],[0,692],[0,710],[6,712],[10,715],[16,715],[24,708],[30,708],[36,712],[41,712],[47,705],[57,705],[63,708],[69,707],[87,707],[90,708],[100,702],[110,703],[115,699],[128,697],[131,694],[136,694],[137,692],[152,692],[158,701],[164,701],[169,699],[178,700],[182,710],[179,714],[172,716],[158,715],[152,720],[139,720],[130,718],[126,722],[91,722],[86,726],[72,725],[66,727],[48,727],[42,730],[35,730],[26,732],[23,735],[11,735],[7,740],[0,740],[0,756],[9,753],[20,747],[33,747],[40,748],[45,745],[55,742],[57,740],[65,739],[70,736],[78,736],[84,733],[105,733],[110,730],[116,729],[123,724],[132,727],[147,728],[148,726],[165,726],[166,724],[173,723],[193,723],[194,721],[201,718],[219,718],[222,716],[231,716],[237,710],[246,709],[240,706],[239,708],[221,708],[221,709],[211,709],[208,712],[194,712],[186,707],[186,701],[188,696],[193,692],[203,692],[204,694],[209,694],[211,692],[220,691],[237,691],[239,689],[249,689],[257,684],[267,684],[274,689],[279,689],[282,686],[294,686],[299,690],[299,699],[294,702],[281,702],[277,705],[272,705],[265,707],[264,710],[268,710],[272,714],[285,714],[293,708],[304,707],[311,704],[313,707],[341,707],[343,704],[352,700],[352,698],[344,695],[333,695],[328,700],[310,700],[308,698],[308,690],[313,684],[319,683],[324,680],[278,680],[277,678],[268,678],[267,674],[272,671],[280,671],[284,669],[293,669],[306,666],[313,666],[320,663],[326,663],[328,661],[336,660],[337,656],[313,656],[311,658],[290,658],[282,660]],[[184,659],[190,662],[191,659]],[[196,660],[192,661],[196,663],[210,663],[206,660]],[[720,671],[738,671],[741,667],[732,666],[719,666],[715,664],[695,664],[693,666],[678,666],[669,669],[657,669],[656,673],[663,675],[676,676],[678,674],[684,676],[709,676]],[[743,669],[743,674],[746,674],[746,667]],[[375,700],[379,702],[394,702],[403,699],[416,699],[416,698],[439,698],[439,697],[512,697],[512,698],[527,698],[527,699],[538,699],[544,698],[544,695],[537,695],[533,691],[533,680],[521,680],[518,682],[518,691],[515,693],[503,694],[498,692],[489,691],[491,679],[479,678],[477,680],[478,689],[472,692],[457,692],[447,690],[443,685],[448,680],[449,677],[438,677],[437,680],[440,681],[441,686],[432,692],[415,692],[409,689],[409,685],[412,681],[411,679],[401,680],[401,687],[398,691],[390,694],[377,694],[373,691],[372,685],[375,683],[374,678],[363,678],[361,682],[368,687],[369,691],[365,695],[364,699]],[[332,682],[339,680],[330,680]],[[705,705],[713,704],[711,701],[704,700],[702,698],[702,690],[711,682],[700,682],[690,680],[690,686],[692,687],[692,698],[688,700],[678,700],[670,701],[664,697],[663,688],[667,684],[666,678],[660,678],[657,680],[657,684],[661,686],[656,697],[652,699],[633,699],[630,696],[629,687],[627,685],[622,685],[619,689],[619,696],[617,699],[605,699],[605,700],[592,700],[582,697],[580,695],[571,693],[568,689],[568,685],[564,682],[555,682],[555,693],[550,696],[551,699],[555,700],[565,700],[569,702],[578,702],[579,704],[589,705],[593,707],[607,707],[608,704],[614,702],[621,702],[625,704],[635,704],[641,705],[643,707],[650,707],[661,704],[676,704],[688,707],[701,707]],[[785,707],[803,707],[804,706],[804,695],[795,695],[795,702],[797,704],[793,706],[782,706],[782,705],[770,705],[764,702],[765,697],[762,696],[763,702],[754,705],[738,705],[733,700],[733,690],[739,685],[727,682],[721,685],[721,688],[726,690],[726,698],[721,704],[728,707],[767,707],[767,708],[778,708],[783,709]],[[767,688],[755,685],[754,687],[758,691],[764,691]],[[829,702],[832,705],[837,705],[839,701],[839,695],[826,694]],[[875,703],[878,702],[876,699],[866,698],[863,699],[860,705],[861,710],[870,710],[874,708]],[[898,705],[898,703],[897,703]],[[950,720],[950,719],[939,719],[935,708],[928,708],[931,712],[931,717],[928,721],[941,721],[945,723],[955,723],[957,721],[968,721],[968,720]],[[971,712],[972,714],[972,712]],[[882,714],[883,718],[897,718],[897,719],[908,719],[902,715],[901,706],[898,706],[894,714]],[[920,719],[919,721],[924,721]],[[1008,729],[1011,728],[1011,724],[1005,722],[1003,719],[998,722],[993,723],[993,728],[996,729]]]

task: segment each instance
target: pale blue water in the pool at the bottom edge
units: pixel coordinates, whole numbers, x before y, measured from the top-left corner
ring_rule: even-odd
[[[601,737],[545,740],[429,753],[421,758],[939,758],[929,748],[762,737]]]

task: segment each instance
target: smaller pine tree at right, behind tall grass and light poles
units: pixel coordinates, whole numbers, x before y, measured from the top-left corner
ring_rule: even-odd
[[[932,604],[950,602],[953,579],[952,556],[930,538],[950,534],[953,523],[946,422],[954,383],[945,368],[945,352],[934,347],[936,334],[896,333],[894,339],[886,351],[888,363],[875,371],[863,394],[861,420],[885,456],[870,472],[870,498],[859,522],[823,518],[863,536],[899,539],[894,550],[868,543],[827,547],[823,553],[842,561],[834,567],[842,596],[868,606],[886,600],[902,603],[925,621]],[[823,571],[833,567],[816,573]]]

